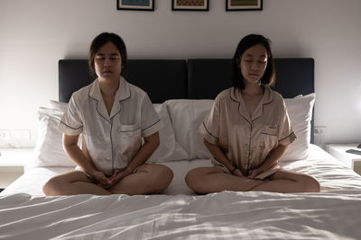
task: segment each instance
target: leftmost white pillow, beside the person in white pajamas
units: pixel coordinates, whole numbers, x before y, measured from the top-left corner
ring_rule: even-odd
[[[38,138],[34,149],[33,166],[75,166],[62,147],[62,133],[58,124],[64,111],[39,108]]]

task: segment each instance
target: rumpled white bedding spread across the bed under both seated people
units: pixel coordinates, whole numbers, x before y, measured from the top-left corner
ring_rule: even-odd
[[[183,178],[202,164],[167,163],[165,194],[132,197],[43,197],[43,182],[69,168],[34,168],[0,194],[0,239],[361,239],[361,177],[319,147],[282,165],[316,177],[320,193],[194,195]]]

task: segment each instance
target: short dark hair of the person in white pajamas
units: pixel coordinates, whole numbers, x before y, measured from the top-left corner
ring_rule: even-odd
[[[96,57],[97,51],[107,42],[113,42],[118,49],[122,58],[122,69],[126,67],[126,48],[125,42],[121,37],[112,32],[103,32],[97,35],[97,37],[91,42],[89,54],[88,54],[88,67],[91,73],[95,72],[94,69],[94,58]]]

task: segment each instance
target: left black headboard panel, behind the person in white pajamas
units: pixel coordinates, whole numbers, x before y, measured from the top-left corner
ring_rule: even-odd
[[[187,98],[186,60],[128,60],[122,75],[148,93],[153,103]],[[59,101],[69,102],[72,93],[91,84],[95,77],[85,59],[60,60]]]

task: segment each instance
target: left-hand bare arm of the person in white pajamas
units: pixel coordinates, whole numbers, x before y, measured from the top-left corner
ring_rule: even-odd
[[[78,139],[79,135],[70,136],[67,134],[63,134],[62,144],[65,152],[68,154],[71,160],[78,164],[86,173],[88,173],[91,177],[94,177],[97,182],[106,187],[110,183],[109,179],[106,178],[106,175],[104,173],[97,171],[97,168],[87,154],[88,149],[85,148],[85,152],[88,156],[87,157],[85,153],[79,148]]]

